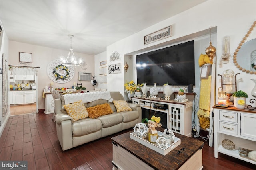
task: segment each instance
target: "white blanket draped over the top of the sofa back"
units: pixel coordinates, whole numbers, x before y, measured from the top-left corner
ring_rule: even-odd
[[[92,102],[98,99],[110,100],[110,92],[90,92],[90,93],[72,93],[63,95],[65,104],[70,104],[82,100],[83,103]]]

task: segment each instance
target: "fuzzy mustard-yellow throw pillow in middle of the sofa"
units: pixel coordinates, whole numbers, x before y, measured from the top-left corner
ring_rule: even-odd
[[[88,111],[88,117],[90,118],[97,118],[103,115],[109,115],[113,113],[113,110],[111,109],[108,103],[98,104],[93,107],[88,107],[87,111]]]

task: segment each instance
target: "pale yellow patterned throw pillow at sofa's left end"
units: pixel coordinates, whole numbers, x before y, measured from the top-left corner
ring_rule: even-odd
[[[78,121],[80,119],[88,117],[88,112],[82,100],[79,100],[78,102],[74,102],[72,104],[65,104],[63,105],[63,107],[67,111],[68,115],[73,118],[74,121]]]

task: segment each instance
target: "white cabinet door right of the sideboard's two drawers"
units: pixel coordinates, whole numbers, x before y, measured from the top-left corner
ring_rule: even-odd
[[[241,136],[256,139],[256,114],[241,113]]]

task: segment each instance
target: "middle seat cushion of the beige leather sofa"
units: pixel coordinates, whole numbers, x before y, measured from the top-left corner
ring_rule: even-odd
[[[122,123],[122,121],[123,121],[122,115],[117,114],[117,113],[100,116],[97,119],[101,121],[102,127],[104,127],[104,128],[118,125],[119,123]]]

